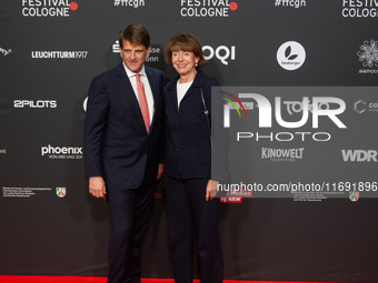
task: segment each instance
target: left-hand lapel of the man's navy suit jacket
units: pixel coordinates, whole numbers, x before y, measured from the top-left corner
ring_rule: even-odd
[[[128,99],[128,101],[131,105],[131,109],[133,111],[136,111],[136,114],[138,117],[138,123],[140,123],[140,127],[142,127],[142,129],[145,129],[145,131],[146,131],[143,117],[142,117],[142,114],[140,112],[140,108],[139,108],[139,102],[137,100],[136,93],[133,92],[133,89],[131,87],[130,79],[125,71],[125,67],[123,67],[122,63],[120,63],[118,65],[117,77],[119,78],[120,88],[123,91],[123,94],[126,95],[126,98]]]

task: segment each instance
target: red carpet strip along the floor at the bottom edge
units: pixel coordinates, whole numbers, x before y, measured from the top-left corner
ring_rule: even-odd
[[[0,275],[1,283],[106,283],[106,277],[83,276],[14,276]],[[142,283],[173,283],[172,279],[142,279]],[[193,283],[199,283],[195,280]],[[238,281],[225,280],[225,283],[290,283],[288,281]],[[291,282],[291,283],[316,283],[316,282]],[[320,283],[320,282],[319,282]],[[328,282],[329,283],[329,282]]]

